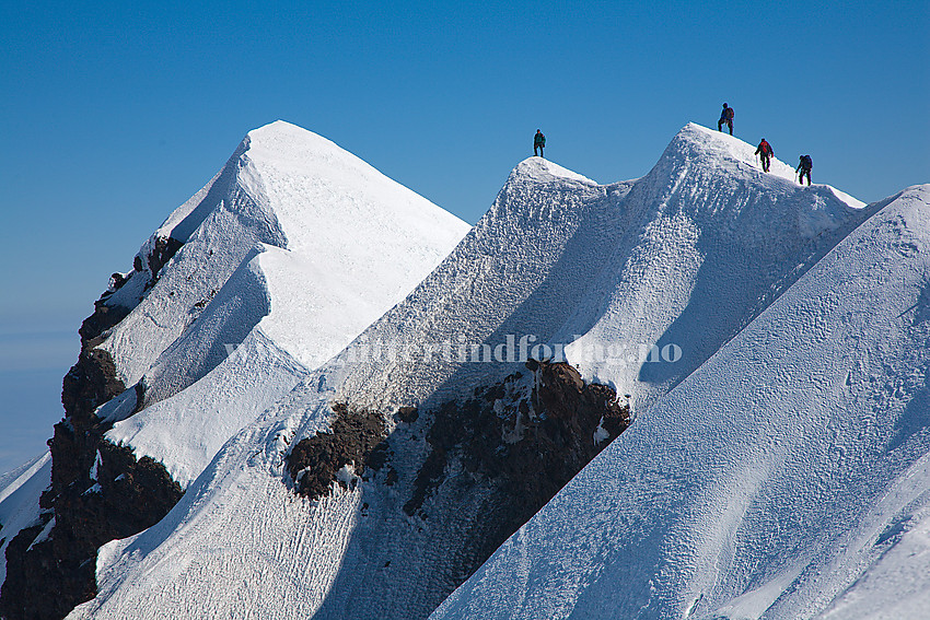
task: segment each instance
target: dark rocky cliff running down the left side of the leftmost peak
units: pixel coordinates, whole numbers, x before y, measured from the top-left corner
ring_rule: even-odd
[[[152,279],[179,247],[175,239],[156,244],[147,257]],[[97,549],[154,525],[181,499],[181,487],[161,464],[137,460],[129,448],[106,441],[112,424],[94,416],[126,390],[109,353],[96,348],[131,311],[107,303],[125,281],[113,278],[79,330],[81,352],[62,382],[66,417],[48,441],[51,486],[42,495],[42,520],[20,531],[7,551],[0,616],[8,620],[63,618],[93,598]]]

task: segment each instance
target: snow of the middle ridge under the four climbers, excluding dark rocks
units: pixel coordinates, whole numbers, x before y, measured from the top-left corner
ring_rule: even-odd
[[[636,182],[602,186],[542,159],[522,162],[403,303],[231,440],[159,525],[101,551],[100,594],[73,617],[427,616],[455,585],[462,533],[447,524],[479,511],[480,498],[464,505],[440,490],[429,500],[434,516],[407,516],[400,506],[429,446],[391,413],[429,410],[520,367],[505,355],[456,356],[508,336],[567,346],[586,376],[644,409],[869,213],[827,186],[794,185],[778,162],[762,173],[753,150],[688,125]],[[678,346],[681,360],[630,359],[656,343]],[[592,344],[620,350],[598,359],[584,352]],[[395,486],[373,479],[318,502],[291,492],[282,454],[326,428],[334,400],[385,414]]]

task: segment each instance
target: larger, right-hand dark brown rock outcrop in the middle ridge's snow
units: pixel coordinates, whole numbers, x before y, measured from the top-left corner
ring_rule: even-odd
[[[476,390],[474,398],[439,408],[427,434],[432,452],[404,506],[407,514],[420,510],[443,481],[449,461],[457,459],[466,471],[493,481],[501,506],[513,504],[501,508],[508,514],[498,523],[507,534],[491,537],[496,549],[629,425],[629,409],[617,402],[612,388],[585,384],[563,362],[530,361],[527,366],[537,374],[528,397],[496,406],[507,398],[508,384],[521,378],[516,373]]]

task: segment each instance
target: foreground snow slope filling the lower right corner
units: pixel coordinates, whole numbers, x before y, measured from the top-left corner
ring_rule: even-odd
[[[918,618],[930,186],[886,201],[431,618]]]

